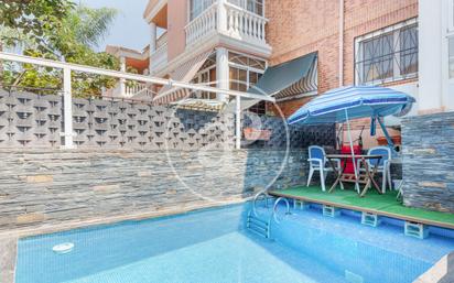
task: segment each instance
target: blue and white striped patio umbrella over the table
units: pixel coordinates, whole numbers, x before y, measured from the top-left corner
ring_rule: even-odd
[[[352,155],[355,161],[349,120],[370,117],[372,126],[375,126],[375,121],[378,121],[388,143],[392,145],[392,141],[379,118],[406,113],[414,101],[413,97],[387,87],[340,87],[312,99],[290,116],[288,123],[321,124],[347,122]],[[371,127],[371,130],[374,128]],[[353,164],[355,175],[357,176],[355,162]]]

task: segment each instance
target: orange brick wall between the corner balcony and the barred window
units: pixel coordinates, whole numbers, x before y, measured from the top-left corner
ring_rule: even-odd
[[[318,92],[339,86],[337,0],[267,1],[270,19],[267,41],[272,46],[270,64],[280,64],[318,52]],[[354,84],[355,37],[418,15],[418,0],[344,1],[344,85]],[[280,104],[285,115],[305,104],[296,99]]]

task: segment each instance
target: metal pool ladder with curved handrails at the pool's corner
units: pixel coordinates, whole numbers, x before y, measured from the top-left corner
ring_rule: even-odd
[[[274,220],[277,224],[280,222],[278,217],[278,205],[280,202],[284,202],[287,205],[285,215],[290,215],[290,204],[284,197],[279,197],[275,199],[273,208],[269,214],[267,219],[262,219],[257,213],[257,200],[260,196],[264,196],[264,207],[269,210],[268,200],[270,196],[267,192],[260,192],[253,197],[252,209],[248,213],[248,218],[246,221],[246,227],[253,233],[259,235],[266,239],[271,239],[271,221]]]

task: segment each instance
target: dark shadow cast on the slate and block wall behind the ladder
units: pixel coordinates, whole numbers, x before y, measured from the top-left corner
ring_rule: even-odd
[[[242,128],[269,130],[267,140],[247,141],[242,148],[248,151],[245,172],[246,192],[279,189],[302,185],[309,171],[307,148],[312,144],[335,146],[335,126],[287,126],[278,117],[251,116],[246,113]]]

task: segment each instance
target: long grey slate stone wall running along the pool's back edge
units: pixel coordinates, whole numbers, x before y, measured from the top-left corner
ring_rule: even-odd
[[[2,151],[0,231],[250,196],[305,182],[306,153]]]

